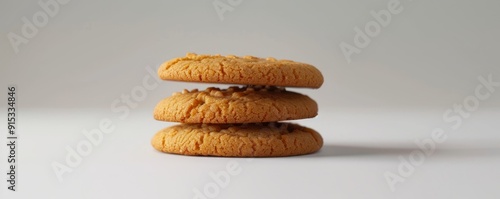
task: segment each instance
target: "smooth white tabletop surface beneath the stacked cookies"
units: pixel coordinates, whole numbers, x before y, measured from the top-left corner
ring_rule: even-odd
[[[170,125],[150,112],[121,121],[102,111],[21,111],[18,192],[6,198],[193,198],[213,182],[210,172],[236,161],[242,168],[217,198],[498,198],[500,124],[498,111],[478,111],[457,130],[440,122],[438,111],[320,112],[299,121],[325,138],[316,154],[287,158],[216,158],[163,154],[149,144]],[[53,161],[85,137],[101,118],[116,130],[59,182]],[[29,125],[24,125],[29,124]],[[433,126],[429,126],[432,124]],[[386,171],[397,172],[398,156],[418,149],[414,139],[445,129],[448,140],[391,192]],[[80,133],[79,133],[80,132]],[[2,168],[4,168],[2,166]],[[3,187],[2,187],[3,188]],[[3,197],[4,198],[4,197]]]

